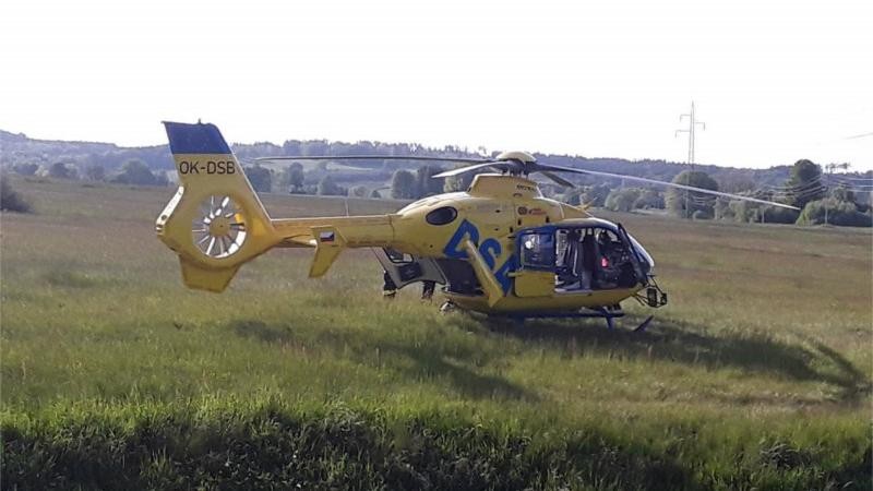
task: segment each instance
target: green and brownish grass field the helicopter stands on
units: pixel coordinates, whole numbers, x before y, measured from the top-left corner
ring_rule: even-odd
[[[602,213],[670,294],[634,334],[383,301],[366,250],[190,291],[154,236],[175,190],[13,184],[36,213],[1,224],[4,489],[872,486],[869,230]]]

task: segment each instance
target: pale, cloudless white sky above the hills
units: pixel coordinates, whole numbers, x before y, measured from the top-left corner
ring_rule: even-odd
[[[0,129],[873,169],[873,2],[0,2]]]

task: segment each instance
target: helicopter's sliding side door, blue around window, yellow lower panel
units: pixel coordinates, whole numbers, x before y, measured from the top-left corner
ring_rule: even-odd
[[[521,232],[519,268],[515,272],[516,297],[548,297],[554,294],[554,228]]]

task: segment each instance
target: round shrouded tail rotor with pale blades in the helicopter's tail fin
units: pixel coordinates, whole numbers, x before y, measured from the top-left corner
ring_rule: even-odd
[[[200,216],[191,224],[192,240],[203,254],[224,259],[246,242],[246,215],[230,196],[213,194],[200,204]]]

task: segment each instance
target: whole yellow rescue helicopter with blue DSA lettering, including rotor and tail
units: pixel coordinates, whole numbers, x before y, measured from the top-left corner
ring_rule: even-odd
[[[157,218],[157,236],[179,255],[188,287],[216,292],[227,287],[243,263],[272,248],[313,248],[312,278],[324,275],[344,249],[373,248],[397,287],[417,282],[443,285],[444,307],[514,319],[595,316],[612,328],[613,320],[624,315],[623,300],[633,297],[651,308],[667,303],[655,282],[654,260],[621,224],[543,197],[528,175],[539,172],[564,187],[573,183],[555,172],[594,175],[791,207],[634,176],[551,166],[523,152],[507,152],[478,159],[270,157],[466,164],[435,178],[497,171],[475,176],[466,191],[424,197],[394,214],[271,218],[214,124],[164,124],[180,185]],[[645,330],[650,320],[637,330]]]

